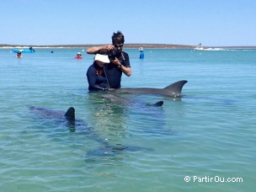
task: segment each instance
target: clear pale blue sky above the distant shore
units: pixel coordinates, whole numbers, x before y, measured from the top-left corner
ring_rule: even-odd
[[[255,46],[255,0],[1,0],[0,44]]]

